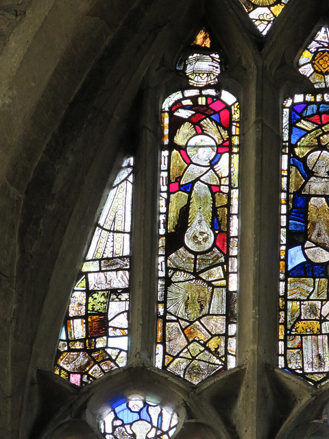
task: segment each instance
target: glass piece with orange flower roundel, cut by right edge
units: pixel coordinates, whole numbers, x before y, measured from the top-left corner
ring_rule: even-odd
[[[300,73],[317,88],[329,86],[329,29],[321,27],[299,61]]]

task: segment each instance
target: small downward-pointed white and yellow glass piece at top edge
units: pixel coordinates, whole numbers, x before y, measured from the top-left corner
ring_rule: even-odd
[[[266,35],[289,0],[240,0],[261,34]]]

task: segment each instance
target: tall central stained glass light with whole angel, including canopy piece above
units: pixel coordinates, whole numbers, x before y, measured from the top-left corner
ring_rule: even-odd
[[[162,106],[156,366],[191,383],[235,366],[239,103],[217,53],[191,53]]]

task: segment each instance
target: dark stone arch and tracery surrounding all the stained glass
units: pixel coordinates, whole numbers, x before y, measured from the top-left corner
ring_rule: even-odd
[[[1,438],[165,438],[101,430],[130,394],[171,407],[178,439],[329,438],[329,382],[278,367],[282,106],[315,93],[297,60],[329,4],[286,1],[262,35],[248,1],[0,0]],[[240,103],[239,286],[236,367],[194,385],[155,367],[158,182],[162,102],[188,86],[176,65],[204,28],[228,64],[215,87]],[[127,364],[79,387],[53,372],[58,337],[127,156]]]

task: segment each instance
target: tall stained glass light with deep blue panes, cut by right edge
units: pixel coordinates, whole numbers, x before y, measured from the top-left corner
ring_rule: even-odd
[[[329,94],[284,102],[279,366],[329,379]]]

